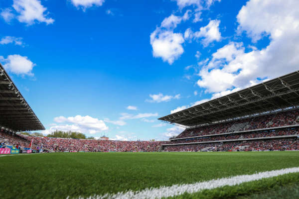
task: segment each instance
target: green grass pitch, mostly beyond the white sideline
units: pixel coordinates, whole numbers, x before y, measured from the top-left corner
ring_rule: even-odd
[[[0,198],[88,197],[290,167],[299,167],[299,152],[52,153],[6,156],[0,157]],[[282,184],[296,180],[288,178]],[[272,180],[272,184],[275,182]],[[251,187],[253,191],[248,193],[260,191]],[[271,186],[268,188],[271,189]],[[246,190],[250,189],[243,190],[243,195],[246,195]],[[190,197],[198,198],[196,195]]]

